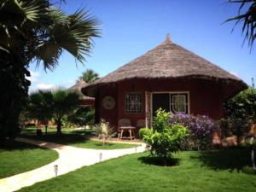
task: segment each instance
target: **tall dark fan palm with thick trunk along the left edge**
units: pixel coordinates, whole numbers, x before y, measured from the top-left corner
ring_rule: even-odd
[[[17,130],[31,62],[53,70],[63,50],[85,61],[91,38],[99,36],[98,23],[84,9],[67,15],[49,0],[0,2],[0,144]]]

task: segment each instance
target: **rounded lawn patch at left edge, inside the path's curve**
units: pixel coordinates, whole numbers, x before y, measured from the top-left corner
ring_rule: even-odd
[[[44,166],[58,159],[57,152],[34,145],[14,142],[0,149],[0,178]]]

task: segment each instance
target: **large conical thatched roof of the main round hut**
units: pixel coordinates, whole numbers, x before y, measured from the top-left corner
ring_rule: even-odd
[[[125,79],[176,79],[202,78],[236,81],[241,87],[247,87],[241,79],[195,55],[188,49],[174,44],[170,36],[166,41],[123,67],[96,80],[85,89],[99,84],[108,84]]]

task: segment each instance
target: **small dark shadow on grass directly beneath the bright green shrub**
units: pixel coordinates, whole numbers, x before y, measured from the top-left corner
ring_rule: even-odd
[[[144,164],[154,166],[177,166],[179,164],[179,159],[177,158],[168,158],[165,163],[163,158],[155,157],[152,155],[139,157],[138,160],[141,160]]]

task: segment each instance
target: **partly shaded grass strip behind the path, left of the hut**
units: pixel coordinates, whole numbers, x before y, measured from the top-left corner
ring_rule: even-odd
[[[95,149],[119,149],[119,148],[133,148],[138,146],[137,144],[126,143],[107,143],[102,146],[101,142],[90,140],[88,136],[93,134],[91,130],[64,130],[61,136],[57,136],[54,131],[49,132],[47,135],[37,136],[34,130],[22,131],[20,137],[31,138],[35,140],[42,140],[51,143],[60,143],[65,145],[71,145],[78,148],[95,148]]]

